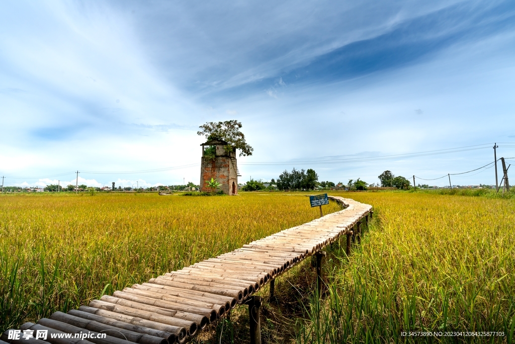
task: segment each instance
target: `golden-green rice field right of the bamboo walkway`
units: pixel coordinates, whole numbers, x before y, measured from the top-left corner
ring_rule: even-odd
[[[329,296],[312,300],[298,342],[515,340],[513,200],[410,192],[339,195],[372,204],[377,220],[349,260],[333,251]],[[504,336],[401,336],[409,330]]]

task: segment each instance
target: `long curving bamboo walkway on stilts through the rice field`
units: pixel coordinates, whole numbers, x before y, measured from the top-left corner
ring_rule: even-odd
[[[20,339],[8,339],[8,330],[2,335],[0,344],[6,344],[5,341],[15,344],[183,343],[226,316],[238,304],[249,305],[253,315],[251,342],[261,342],[257,338],[261,299],[254,293],[270,283],[273,297],[274,279],[310,255],[317,257],[320,288],[322,249],[344,235],[349,253],[352,237],[360,239],[362,220],[368,223],[372,216],[370,205],[329,197],[346,208],[216,258],[165,273],[148,283],[115,291],[112,296],[102,296],[67,314],[56,312],[37,324],[27,322],[20,327]],[[22,338],[24,330],[33,331],[33,337]],[[47,338],[36,339],[37,330],[47,330]],[[90,335],[82,340],[51,338],[51,334],[60,333]],[[106,333],[107,337],[92,338],[98,333]]]

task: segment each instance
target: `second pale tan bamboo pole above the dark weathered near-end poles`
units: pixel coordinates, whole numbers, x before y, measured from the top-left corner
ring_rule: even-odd
[[[155,314],[153,312],[147,312],[146,310],[134,309],[105,301],[93,300],[90,302],[89,306],[93,308],[109,310],[110,312],[114,313],[129,315],[131,317],[138,317],[145,320],[160,322],[167,325],[184,327],[184,329],[186,329],[187,334],[190,336],[194,336],[197,333],[198,329],[197,324],[193,321],[187,321],[184,319],[174,317],[167,317],[160,314]]]

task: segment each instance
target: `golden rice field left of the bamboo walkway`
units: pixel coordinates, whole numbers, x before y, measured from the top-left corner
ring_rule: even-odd
[[[0,330],[317,217],[300,194],[0,195]]]

